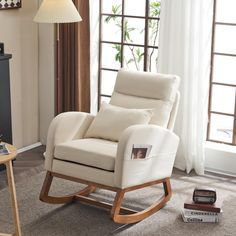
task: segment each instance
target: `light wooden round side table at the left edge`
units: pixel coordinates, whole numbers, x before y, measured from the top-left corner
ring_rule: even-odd
[[[10,236],[10,235],[21,236],[19,212],[18,212],[18,206],[17,206],[17,200],[16,200],[16,188],[15,188],[13,168],[12,168],[12,160],[16,158],[17,151],[16,151],[16,148],[10,144],[7,144],[7,148],[10,151],[10,154],[0,155],[0,164],[6,165],[7,180],[8,180],[10,197],[11,197],[12,214],[13,214],[15,232],[14,234],[0,233],[0,236]]]

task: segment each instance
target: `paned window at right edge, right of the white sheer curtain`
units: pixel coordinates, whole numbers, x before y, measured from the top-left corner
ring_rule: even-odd
[[[209,141],[236,145],[236,1],[214,0]]]

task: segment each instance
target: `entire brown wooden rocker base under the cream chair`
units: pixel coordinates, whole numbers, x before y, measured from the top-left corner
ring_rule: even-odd
[[[71,194],[71,195],[66,195],[62,197],[49,196],[49,190],[52,184],[53,177],[58,177],[62,179],[67,179],[67,180],[87,184],[88,186],[82,189],[81,191]],[[148,187],[155,184],[161,184],[161,183],[163,184],[164,195],[157,202],[153,203],[148,208],[137,212],[128,208],[121,207],[121,204],[122,204],[122,201],[124,199],[124,195],[126,192],[130,192],[133,190],[137,190],[137,189],[141,189],[144,187]],[[88,197],[89,194],[94,192],[97,187],[116,192],[113,205],[109,203],[97,201],[95,199]],[[145,184],[128,187],[125,189],[120,189],[120,188],[97,184],[90,181],[86,181],[86,180],[82,180],[82,179],[78,179],[74,177],[69,177],[69,176],[65,176],[65,175],[48,171],[46,174],[43,186],[42,186],[41,193],[40,193],[40,200],[43,202],[53,203],[53,204],[63,204],[63,203],[68,203],[74,200],[78,200],[86,204],[90,204],[93,206],[98,206],[98,207],[102,207],[102,208],[110,210],[111,212],[110,216],[114,220],[114,222],[121,223],[121,224],[130,224],[130,223],[141,221],[145,219],[146,217],[152,215],[153,213],[157,212],[158,210],[160,210],[165,205],[165,203],[170,200],[171,195],[172,195],[172,192],[171,192],[170,178],[164,178],[161,180],[155,180],[155,181],[151,181]]]

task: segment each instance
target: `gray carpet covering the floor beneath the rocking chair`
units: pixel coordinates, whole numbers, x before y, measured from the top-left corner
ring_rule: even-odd
[[[93,236],[93,235],[236,235],[236,182],[215,176],[187,176],[175,171],[172,177],[173,197],[167,205],[151,217],[131,225],[116,224],[106,210],[80,204],[50,205],[38,200],[45,172],[17,182],[17,198],[23,235],[25,236]],[[223,202],[223,218],[220,223],[184,223],[180,215],[183,203],[191,196],[194,187],[205,185],[217,190]],[[55,181],[55,193],[73,192],[82,185],[67,181]],[[154,186],[127,194],[126,205],[142,208],[150,205],[160,193]],[[108,191],[97,191],[96,198],[113,199]],[[0,191],[0,232],[11,232],[12,219],[8,190]]]

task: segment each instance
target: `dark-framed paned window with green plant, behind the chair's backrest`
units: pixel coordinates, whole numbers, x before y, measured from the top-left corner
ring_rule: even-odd
[[[157,71],[160,0],[100,0],[98,101],[109,101],[119,68]]]

